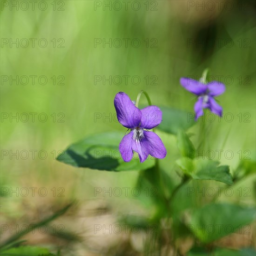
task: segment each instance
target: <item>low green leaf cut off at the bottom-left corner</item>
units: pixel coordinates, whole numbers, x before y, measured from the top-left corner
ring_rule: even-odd
[[[1,252],[1,256],[19,255],[19,256],[54,256],[46,248],[34,246],[20,246],[16,248],[7,249]]]

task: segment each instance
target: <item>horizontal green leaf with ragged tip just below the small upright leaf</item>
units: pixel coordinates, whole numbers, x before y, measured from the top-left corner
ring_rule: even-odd
[[[218,161],[209,159],[187,159],[182,157],[176,161],[177,165],[195,180],[214,180],[228,185],[233,184],[229,166],[219,165]]]

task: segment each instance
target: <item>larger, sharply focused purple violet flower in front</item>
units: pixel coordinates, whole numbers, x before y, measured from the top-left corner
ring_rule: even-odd
[[[141,162],[144,162],[148,155],[164,158],[166,149],[161,139],[154,132],[144,130],[155,128],[161,123],[162,111],[160,108],[148,106],[139,109],[123,92],[115,95],[114,105],[118,121],[122,126],[131,129],[122,138],[119,145],[123,160],[131,161],[133,151],[139,154]]]

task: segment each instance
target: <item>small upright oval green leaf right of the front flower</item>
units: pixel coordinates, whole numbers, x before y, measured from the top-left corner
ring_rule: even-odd
[[[177,147],[182,156],[191,159],[195,158],[195,147],[189,140],[189,136],[183,130],[179,130],[177,133]]]

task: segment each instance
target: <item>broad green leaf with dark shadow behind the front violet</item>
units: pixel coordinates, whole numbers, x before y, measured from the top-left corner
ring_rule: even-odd
[[[124,162],[119,152],[119,143],[125,133],[109,132],[93,135],[70,145],[57,160],[74,167],[106,171],[144,170],[155,164],[155,159],[141,163],[138,157]]]

